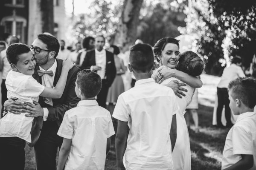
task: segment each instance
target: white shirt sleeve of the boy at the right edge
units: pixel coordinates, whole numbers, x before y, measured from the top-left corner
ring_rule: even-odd
[[[233,154],[253,155],[253,137],[250,132],[235,126],[232,134]]]

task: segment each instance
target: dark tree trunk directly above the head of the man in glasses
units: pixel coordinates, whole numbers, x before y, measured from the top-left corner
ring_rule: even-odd
[[[42,32],[53,34],[53,0],[40,0]]]

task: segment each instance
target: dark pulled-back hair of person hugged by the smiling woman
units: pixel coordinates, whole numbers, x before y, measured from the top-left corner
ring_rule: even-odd
[[[176,69],[191,76],[200,76],[204,71],[204,61],[193,51],[180,54]]]

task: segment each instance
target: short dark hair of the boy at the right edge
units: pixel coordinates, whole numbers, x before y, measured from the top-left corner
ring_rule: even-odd
[[[228,89],[232,90],[233,99],[241,100],[248,108],[256,105],[256,79],[253,77],[239,77],[229,83]]]

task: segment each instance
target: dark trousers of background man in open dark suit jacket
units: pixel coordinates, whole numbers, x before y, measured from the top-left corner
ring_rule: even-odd
[[[102,89],[99,91],[99,94],[97,95],[97,102],[99,103],[99,106],[102,108],[106,108],[106,100],[108,96],[108,88],[109,84],[107,80],[102,79]]]

